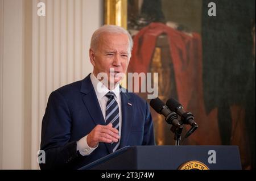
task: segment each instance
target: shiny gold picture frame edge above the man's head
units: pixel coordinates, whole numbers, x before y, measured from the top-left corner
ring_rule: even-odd
[[[105,24],[114,24],[127,30],[127,0],[105,0]]]

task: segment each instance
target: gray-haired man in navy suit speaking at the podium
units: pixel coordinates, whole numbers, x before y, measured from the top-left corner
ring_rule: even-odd
[[[155,144],[148,104],[119,86],[132,47],[131,36],[121,27],[103,26],[93,33],[93,72],[49,96],[41,140],[46,163],[40,163],[41,169],[79,169],[127,145]]]

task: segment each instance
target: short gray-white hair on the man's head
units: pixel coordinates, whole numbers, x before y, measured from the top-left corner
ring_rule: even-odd
[[[95,51],[97,49],[98,41],[100,40],[102,33],[126,34],[129,37],[128,54],[129,57],[131,57],[131,50],[133,49],[133,38],[127,30],[115,25],[104,25],[98,28],[98,30],[94,31],[92,39],[90,40],[90,48],[92,48],[92,50]]]

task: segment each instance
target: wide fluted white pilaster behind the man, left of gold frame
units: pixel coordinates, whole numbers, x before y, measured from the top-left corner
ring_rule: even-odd
[[[41,125],[49,94],[92,71],[90,37],[103,22],[103,1],[40,0],[46,16],[37,16],[32,1],[31,167],[38,169]]]

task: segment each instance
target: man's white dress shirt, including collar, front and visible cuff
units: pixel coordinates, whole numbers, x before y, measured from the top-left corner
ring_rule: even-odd
[[[95,77],[93,73],[90,74],[90,81],[92,81],[92,85],[96,92],[98,103],[100,103],[102,115],[104,117],[104,120],[106,121],[106,103],[108,102],[108,98],[105,95],[110,90],[102,82],[98,81],[98,79]],[[119,139],[121,139],[122,109],[119,84],[115,85],[115,88],[112,90],[112,92],[114,92],[115,94],[114,99],[117,101],[119,108]],[[95,150],[98,147],[97,145],[96,148],[90,148],[90,146],[87,144],[87,136],[88,134],[82,137],[79,141],[77,141],[77,150],[79,150],[79,153],[83,156],[89,155],[90,153],[92,153],[93,150]]]

